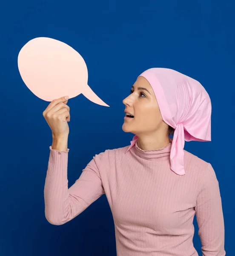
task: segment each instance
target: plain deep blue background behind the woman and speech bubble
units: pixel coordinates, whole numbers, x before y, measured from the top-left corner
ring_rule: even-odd
[[[20,49],[36,37],[69,44],[85,59],[88,84],[110,108],[83,95],[70,99],[69,187],[95,154],[129,145],[122,100],[150,67],[175,69],[201,82],[212,101],[212,141],[185,149],[212,164],[219,180],[225,250],[234,251],[235,3],[201,1],[5,1],[0,6],[1,256],[116,255],[112,213],[103,195],[72,221],[54,226],[43,189],[51,130],[49,104],[26,87]],[[196,219],[195,248],[201,255]]]

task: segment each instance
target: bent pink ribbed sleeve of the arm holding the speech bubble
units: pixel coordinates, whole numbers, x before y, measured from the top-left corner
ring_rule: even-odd
[[[54,225],[72,220],[105,193],[97,167],[99,155],[93,157],[68,189],[68,154],[69,149],[57,151],[50,146],[44,201],[46,219]]]

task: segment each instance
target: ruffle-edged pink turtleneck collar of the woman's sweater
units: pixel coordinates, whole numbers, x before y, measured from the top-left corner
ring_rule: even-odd
[[[168,160],[170,158],[170,152],[172,147],[172,139],[170,138],[169,144],[164,146],[163,148],[155,149],[155,150],[143,150],[138,147],[138,140],[135,142],[135,147],[133,150],[138,157],[141,157],[146,160],[152,161],[161,161]]]

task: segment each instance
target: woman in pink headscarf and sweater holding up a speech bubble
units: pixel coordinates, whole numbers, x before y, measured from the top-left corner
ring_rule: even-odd
[[[123,100],[131,145],[96,154],[68,189],[68,99],[43,112],[52,129],[45,181],[46,219],[64,224],[106,194],[115,222],[117,256],[224,256],[224,217],[215,171],[185,151],[184,141],[211,140],[211,102],[204,87],[175,70],[151,68]],[[173,132],[173,139],[169,134]]]

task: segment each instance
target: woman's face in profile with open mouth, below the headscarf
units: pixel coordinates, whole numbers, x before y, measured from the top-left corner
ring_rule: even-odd
[[[126,106],[125,111],[134,116],[124,118],[123,131],[141,136],[151,135],[163,127],[168,128],[162,120],[152,86],[143,76],[135,81],[130,95],[123,99],[123,104]]]

